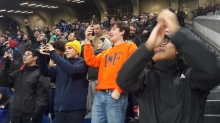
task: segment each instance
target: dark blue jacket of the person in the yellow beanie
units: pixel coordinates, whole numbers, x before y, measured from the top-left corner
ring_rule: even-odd
[[[56,66],[48,67],[45,55],[39,55],[38,63],[43,76],[56,78],[54,110],[85,110],[88,87],[85,61],[82,58],[64,59],[54,51],[50,53],[50,58]]]

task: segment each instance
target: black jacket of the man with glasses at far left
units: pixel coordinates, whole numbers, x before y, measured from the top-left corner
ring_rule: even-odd
[[[7,87],[13,87],[15,92],[10,102],[11,114],[23,116],[26,114],[42,114],[42,107],[49,98],[49,78],[43,77],[37,66],[25,66],[23,70],[16,70],[8,74],[2,71]]]

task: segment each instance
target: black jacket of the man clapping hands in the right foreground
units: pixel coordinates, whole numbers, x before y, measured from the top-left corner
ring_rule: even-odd
[[[145,69],[154,53],[141,46],[122,66],[117,83],[138,97],[140,123],[202,123],[209,91],[220,83],[220,62],[185,29],[172,38],[189,68],[178,61]],[[202,55],[201,55],[202,54]]]

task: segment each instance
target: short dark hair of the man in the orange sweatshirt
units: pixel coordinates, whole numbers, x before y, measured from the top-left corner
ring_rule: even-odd
[[[123,39],[126,40],[129,37],[130,34],[130,28],[128,26],[128,24],[126,24],[123,21],[119,21],[119,22],[115,22],[114,24],[112,24],[113,26],[117,26],[119,28],[119,31],[125,31],[124,35],[123,35]]]

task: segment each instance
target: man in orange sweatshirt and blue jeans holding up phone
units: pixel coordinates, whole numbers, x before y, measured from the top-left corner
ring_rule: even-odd
[[[134,43],[125,42],[129,36],[129,26],[120,21],[113,24],[109,34],[114,47],[95,56],[90,41],[95,28],[94,25],[94,27],[90,26],[87,29],[84,48],[86,64],[99,68],[96,86],[98,92],[92,106],[92,123],[123,123],[125,122],[128,98],[127,94],[118,88],[116,77],[122,64],[137,47]],[[95,47],[96,45],[94,45]]]

